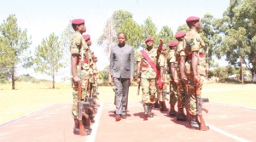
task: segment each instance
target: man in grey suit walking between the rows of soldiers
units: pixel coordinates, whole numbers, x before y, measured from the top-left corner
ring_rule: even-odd
[[[125,119],[127,114],[128,92],[134,76],[133,48],[125,43],[124,32],[118,34],[118,45],[111,49],[110,79],[115,88],[115,120]]]

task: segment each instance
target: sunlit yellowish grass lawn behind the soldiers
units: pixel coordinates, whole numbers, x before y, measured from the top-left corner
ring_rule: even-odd
[[[50,87],[50,82],[16,82],[17,89],[11,90],[10,83],[0,84],[0,125],[48,105],[72,104],[72,88],[69,83],[56,83],[55,89]],[[111,87],[100,87],[99,92],[100,102],[113,103],[114,94]],[[208,97],[215,103],[256,109],[256,84],[209,83],[204,85],[203,97]],[[129,102],[140,100],[141,96],[137,96],[137,87],[131,87]]]

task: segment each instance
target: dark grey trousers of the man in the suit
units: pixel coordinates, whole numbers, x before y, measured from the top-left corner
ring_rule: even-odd
[[[130,78],[113,78],[115,107],[117,115],[126,115]]]

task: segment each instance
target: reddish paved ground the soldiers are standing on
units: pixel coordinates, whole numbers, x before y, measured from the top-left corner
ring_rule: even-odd
[[[229,105],[205,104],[205,120],[211,130],[190,129],[187,122],[177,122],[154,109],[154,118],[143,119],[143,106],[129,103],[125,120],[115,122],[114,106],[101,104],[90,136],[73,135],[71,105],[50,105],[42,111],[0,126],[1,142],[163,142],[163,141],[256,141],[256,111]]]

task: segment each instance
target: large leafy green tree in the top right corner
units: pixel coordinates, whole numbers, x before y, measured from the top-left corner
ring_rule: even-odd
[[[252,75],[256,71],[255,3],[250,0],[231,0],[224,17],[217,20],[216,24],[223,37],[216,50],[218,58],[225,55],[231,65],[243,63]]]

